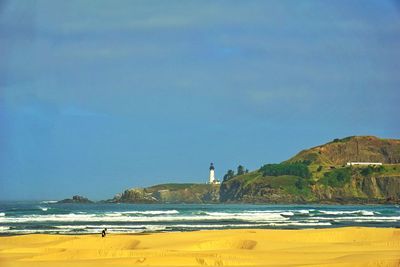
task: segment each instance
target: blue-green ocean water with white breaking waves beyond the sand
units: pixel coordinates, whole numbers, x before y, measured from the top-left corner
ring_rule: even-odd
[[[0,202],[0,235],[400,227],[400,206]]]

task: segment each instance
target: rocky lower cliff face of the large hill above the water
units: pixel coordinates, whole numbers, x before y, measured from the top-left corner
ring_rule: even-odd
[[[224,182],[220,189],[221,202],[400,203],[400,175],[364,177],[354,174],[350,181],[341,187],[327,186],[317,182],[302,189],[296,187],[296,179],[300,178],[293,177],[292,185],[281,186],[268,182],[270,178],[260,177],[248,183],[240,179]]]

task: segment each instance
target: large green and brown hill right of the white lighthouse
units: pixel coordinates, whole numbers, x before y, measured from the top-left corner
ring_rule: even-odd
[[[346,166],[347,162],[382,166]],[[335,139],[280,164],[224,181],[221,202],[388,203],[400,200],[400,140],[373,136]]]

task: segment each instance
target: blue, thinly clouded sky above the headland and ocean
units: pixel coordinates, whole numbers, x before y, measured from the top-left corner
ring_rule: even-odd
[[[400,2],[0,0],[0,199],[400,138]]]

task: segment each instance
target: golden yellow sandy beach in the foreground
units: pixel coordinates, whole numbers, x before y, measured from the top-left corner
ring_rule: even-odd
[[[1,266],[400,266],[400,229],[0,237]]]

